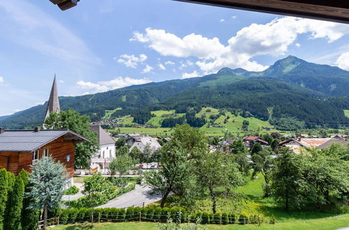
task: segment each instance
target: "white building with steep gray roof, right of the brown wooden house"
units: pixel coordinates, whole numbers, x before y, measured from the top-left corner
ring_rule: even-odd
[[[115,141],[100,125],[91,125],[90,130],[97,132],[100,145],[98,153],[91,158],[91,170],[107,173],[109,163],[116,157]]]

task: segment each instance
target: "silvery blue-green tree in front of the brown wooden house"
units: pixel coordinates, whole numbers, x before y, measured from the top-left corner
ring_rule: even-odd
[[[47,224],[47,210],[59,205],[66,185],[66,168],[61,162],[54,162],[50,157],[43,157],[34,165],[27,195],[31,199],[30,209],[44,210],[44,227]]]

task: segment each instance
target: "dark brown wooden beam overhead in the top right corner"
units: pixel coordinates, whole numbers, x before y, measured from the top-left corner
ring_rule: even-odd
[[[349,24],[349,0],[174,0]]]

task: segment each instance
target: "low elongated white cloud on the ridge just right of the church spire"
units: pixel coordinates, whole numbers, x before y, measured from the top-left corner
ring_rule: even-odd
[[[119,89],[126,86],[132,86],[136,84],[146,84],[149,82],[151,81],[146,78],[134,79],[131,77],[117,77],[110,81],[101,81],[97,83],[79,81],[76,84],[80,89],[91,91],[91,92],[85,92],[84,95],[86,95],[89,93],[100,93],[100,92],[110,91],[112,89]]]

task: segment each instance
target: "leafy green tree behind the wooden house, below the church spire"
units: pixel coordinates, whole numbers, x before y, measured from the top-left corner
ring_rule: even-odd
[[[45,127],[50,129],[69,129],[82,137],[89,139],[76,144],[75,166],[89,167],[91,156],[99,148],[97,133],[90,130],[91,121],[89,116],[80,115],[74,110],[67,109],[59,113],[52,112],[45,120]]]

